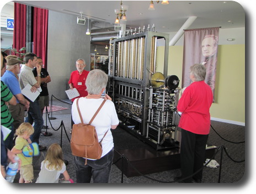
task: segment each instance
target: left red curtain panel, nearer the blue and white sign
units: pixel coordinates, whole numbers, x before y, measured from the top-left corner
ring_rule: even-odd
[[[13,48],[26,46],[26,5],[14,3]]]

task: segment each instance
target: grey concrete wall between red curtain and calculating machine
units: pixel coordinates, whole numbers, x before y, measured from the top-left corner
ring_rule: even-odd
[[[87,20],[86,20],[87,22]],[[67,98],[65,90],[72,71],[76,70],[76,60],[86,61],[89,70],[90,35],[86,35],[86,25],[77,24],[76,15],[68,15],[49,10],[47,71],[51,76],[48,84],[49,96]]]

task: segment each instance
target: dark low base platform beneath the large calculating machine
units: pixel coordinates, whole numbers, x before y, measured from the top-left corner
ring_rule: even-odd
[[[212,158],[215,154],[215,149],[216,147],[214,146],[206,149],[206,158]],[[141,174],[159,173],[180,168],[180,148],[167,151],[155,151],[150,148],[115,149],[113,162],[116,167],[123,171],[127,178],[140,176]]]

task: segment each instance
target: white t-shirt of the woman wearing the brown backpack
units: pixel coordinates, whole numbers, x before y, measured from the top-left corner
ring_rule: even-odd
[[[100,104],[104,101],[103,98],[99,99],[87,99],[86,97],[79,98],[79,109],[82,114],[83,123],[88,124],[90,119],[92,119],[93,115],[99,108]],[[77,99],[74,100],[72,104],[72,119],[75,124],[81,123],[81,119],[79,117],[79,113],[77,110]],[[102,109],[100,109],[99,113],[94,118],[91,125],[95,126],[95,130],[97,131],[98,140],[101,141],[105,132],[106,136],[102,141],[102,157],[105,154],[109,153],[109,151],[114,147],[113,136],[110,131],[111,125],[118,125],[119,119],[116,114],[115,105],[112,101],[106,100]]]

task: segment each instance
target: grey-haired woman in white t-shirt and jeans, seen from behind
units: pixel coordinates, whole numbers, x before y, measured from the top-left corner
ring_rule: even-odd
[[[90,71],[86,79],[88,96],[81,97],[78,101],[83,122],[89,123],[100,104],[106,99],[105,104],[91,124],[95,126],[99,141],[102,140],[106,133],[102,141],[102,157],[97,160],[88,158],[87,165],[84,165],[84,158],[74,157],[74,162],[76,164],[76,182],[79,183],[89,183],[91,178],[93,178],[93,182],[109,182],[110,170],[114,157],[114,142],[110,129],[116,129],[119,124],[119,119],[111,98],[107,94],[105,94],[104,98],[102,97],[107,82],[108,75],[106,75],[104,71],[99,69]],[[72,105],[72,119],[75,124],[78,124],[81,123],[81,120],[77,110],[76,101],[77,99],[75,99]]]

